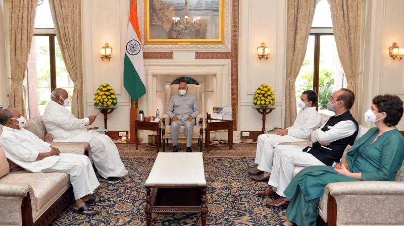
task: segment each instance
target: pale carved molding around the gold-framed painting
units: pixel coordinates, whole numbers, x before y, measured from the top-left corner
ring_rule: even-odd
[[[162,51],[182,51],[186,49],[197,48],[198,51],[231,51],[231,37],[232,37],[232,11],[231,9],[232,1],[234,0],[224,0],[224,44],[215,44],[215,45],[145,45],[144,44],[144,0],[139,0],[137,2],[137,15],[139,18],[139,28],[141,37],[143,40],[143,51],[144,52],[162,52]],[[237,1],[238,4],[238,1]]]

